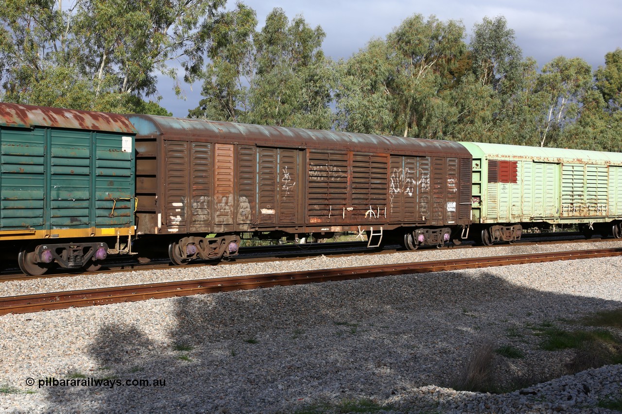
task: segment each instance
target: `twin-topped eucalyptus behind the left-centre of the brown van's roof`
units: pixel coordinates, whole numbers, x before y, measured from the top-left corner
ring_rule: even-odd
[[[328,129],[332,124],[332,62],[322,51],[322,27],[302,16],[290,22],[274,9],[253,37],[255,75],[249,122]]]

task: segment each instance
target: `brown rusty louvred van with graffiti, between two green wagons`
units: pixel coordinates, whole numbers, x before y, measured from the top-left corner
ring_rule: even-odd
[[[138,131],[137,233],[170,234],[174,261],[226,256],[241,232],[373,230],[374,244],[382,233],[416,247],[470,222],[471,155],[455,142],[128,119]]]

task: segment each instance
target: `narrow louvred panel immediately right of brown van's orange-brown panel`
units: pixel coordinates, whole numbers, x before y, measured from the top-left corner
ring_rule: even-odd
[[[257,217],[256,203],[257,149],[238,147],[238,223],[252,224]]]

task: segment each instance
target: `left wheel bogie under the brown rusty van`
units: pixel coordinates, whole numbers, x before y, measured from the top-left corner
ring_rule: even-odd
[[[228,260],[238,254],[239,242],[237,234],[220,237],[187,236],[169,244],[169,258],[176,265],[196,259]]]

